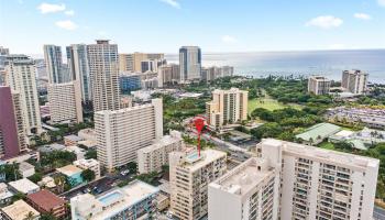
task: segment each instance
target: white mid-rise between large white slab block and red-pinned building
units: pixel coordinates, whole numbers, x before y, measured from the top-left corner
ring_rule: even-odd
[[[154,141],[150,146],[138,151],[138,170],[141,174],[162,172],[162,166],[168,164],[168,153],[182,151],[183,139],[178,131]]]

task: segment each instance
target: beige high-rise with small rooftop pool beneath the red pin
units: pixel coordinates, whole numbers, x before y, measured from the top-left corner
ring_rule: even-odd
[[[206,150],[169,153],[170,210],[184,220],[201,219],[208,212],[208,184],[227,169],[227,154]]]

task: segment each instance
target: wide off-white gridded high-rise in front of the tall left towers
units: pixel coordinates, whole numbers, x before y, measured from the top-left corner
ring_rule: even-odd
[[[48,85],[51,121],[82,122],[81,92],[79,81]]]

